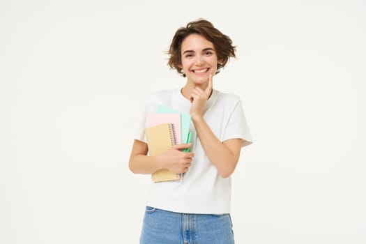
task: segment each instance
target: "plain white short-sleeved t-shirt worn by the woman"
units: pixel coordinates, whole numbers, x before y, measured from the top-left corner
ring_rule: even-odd
[[[181,94],[181,89],[152,93],[147,99],[142,120],[137,125],[135,139],[146,142],[146,116],[155,113],[158,105],[189,114],[191,103]],[[242,146],[252,143],[238,96],[213,89],[204,107],[204,119],[221,142],[239,138],[243,139]],[[190,169],[181,182],[153,183],[151,180],[147,205],[178,213],[230,213],[231,177],[222,178],[208,160],[193,123],[190,131],[193,132],[190,151],[195,153]]]

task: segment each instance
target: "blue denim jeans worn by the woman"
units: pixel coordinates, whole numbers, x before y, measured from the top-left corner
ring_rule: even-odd
[[[230,215],[174,213],[146,206],[140,244],[234,244]]]

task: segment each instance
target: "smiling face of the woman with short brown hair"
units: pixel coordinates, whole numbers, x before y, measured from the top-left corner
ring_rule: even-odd
[[[208,82],[208,76],[214,75],[218,67],[213,43],[199,34],[190,34],[183,40],[181,59],[179,68],[183,68],[188,82],[197,85]]]

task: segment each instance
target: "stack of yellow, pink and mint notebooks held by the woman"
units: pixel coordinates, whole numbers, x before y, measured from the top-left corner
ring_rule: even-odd
[[[148,154],[157,156],[175,144],[190,143],[190,114],[158,105],[155,114],[148,114],[145,128]],[[189,151],[188,148],[184,151]],[[153,181],[182,181],[183,174],[175,174],[169,169],[160,169],[152,175]]]

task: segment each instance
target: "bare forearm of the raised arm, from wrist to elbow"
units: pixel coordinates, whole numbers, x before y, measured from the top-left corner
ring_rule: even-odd
[[[238,157],[220,142],[202,116],[192,117],[192,121],[208,159],[223,178],[229,177],[236,167]]]

